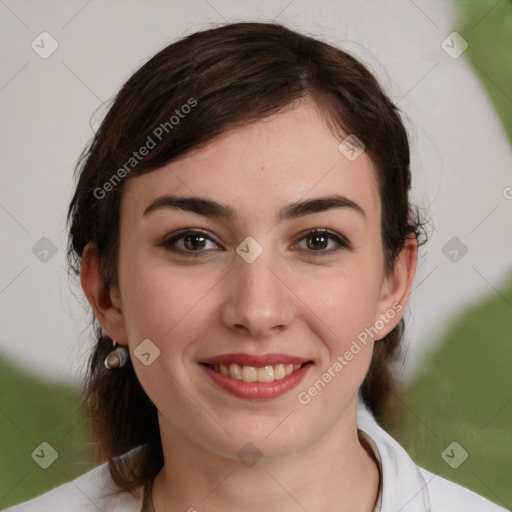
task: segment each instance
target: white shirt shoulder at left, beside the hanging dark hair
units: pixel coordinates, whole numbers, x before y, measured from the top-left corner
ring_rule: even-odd
[[[115,490],[108,464],[105,463],[37,498],[5,509],[4,512],[140,511],[142,506],[141,489],[138,489],[135,496],[127,492],[115,494]]]

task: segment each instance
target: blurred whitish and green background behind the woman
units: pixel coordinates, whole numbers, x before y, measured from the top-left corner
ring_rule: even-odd
[[[76,160],[145,60],[235,20],[285,23],[355,54],[405,113],[432,233],[398,369],[407,393],[387,428],[420,464],[512,503],[510,2],[0,0],[0,13],[0,505],[91,465],[78,400],[89,313],[64,258]],[[31,456],[41,442],[58,453],[48,469]],[[459,447],[469,456],[455,468],[446,453],[458,462]]]

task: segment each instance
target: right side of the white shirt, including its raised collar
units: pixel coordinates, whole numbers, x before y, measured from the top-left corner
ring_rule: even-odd
[[[380,460],[382,512],[506,512],[469,489],[417,466],[362,404],[358,404],[357,425],[371,439]]]

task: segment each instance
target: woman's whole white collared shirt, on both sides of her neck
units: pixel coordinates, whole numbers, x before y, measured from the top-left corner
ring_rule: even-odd
[[[366,434],[381,467],[381,488],[374,512],[507,512],[469,489],[416,466],[362,404],[357,410],[357,426]],[[105,463],[5,512],[141,512],[142,488],[135,496],[108,496],[114,489]]]

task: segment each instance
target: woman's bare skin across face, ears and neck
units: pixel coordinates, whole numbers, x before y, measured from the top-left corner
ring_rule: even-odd
[[[157,512],[373,509],[378,465],[356,426],[373,340],[309,404],[297,395],[393,304],[401,313],[376,339],[397,325],[417,245],[408,240],[385,271],[375,170],[366,153],[349,161],[339,142],[309,101],[226,132],[125,183],[117,287],[105,288],[94,245],[84,252],[83,289],[103,328],[129,347],[159,411],[165,464],[153,488]],[[357,203],[364,216],[331,208],[277,221],[283,206],[333,193]],[[144,215],[164,194],[209,198],[232,207],[237,218],[171,208]],[[200,256],[159,246],[183,228],[212,239]],[[306,235],[314,228],[339,233],[351,248],[331,240],[312,249]],[[235,252],[247,236],[263,248],[252,263]],[[184,240],[178,243],[183,249]],[[144,339],[161,351],[149,366],[133,356]],[[198,364],[229,352],[285,353],[314,364],[298,388],[250,401],[219,389]],[[263,454],[249,468],[237,457],[247,442]]]

